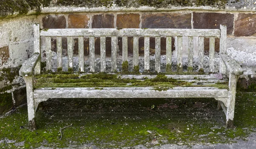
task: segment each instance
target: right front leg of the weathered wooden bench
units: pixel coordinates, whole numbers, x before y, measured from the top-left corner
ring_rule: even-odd
[[[226,115],[226,125],[229,128],[234,127],[233,119],[235,113],[235,101],[236,101],[236,82],[237,76],[230,73],[229,76],[229,97],[227,101],[227,115]]]

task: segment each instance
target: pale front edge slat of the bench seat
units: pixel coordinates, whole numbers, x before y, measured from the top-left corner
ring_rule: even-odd
[[[167,91],[155,91],[151,87],[139,88],[73,88],[36,89],[35,98],[186,98],[186,97],[227,97],[227,89],[209,87],[179,87]]]

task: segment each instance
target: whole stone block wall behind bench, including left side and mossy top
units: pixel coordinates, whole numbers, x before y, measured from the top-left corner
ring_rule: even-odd
[[[256,1],[254,0],[2,0],[0,2],[0,114],[26,103],[25,86],[18,75],[20,65],[33,53],[34,23],[41,29],[56,28],[174,28],[219,29],[227,26],[227,53],[245,70],[239,83],[247,87],[256,75]],[[44,39],[42,39],[44,41]],[[77,41],[77,39],[75,39]],[[63,39],[63,54],[67,40]],[[154,38],[150,39],[154,54]],[[186,42],[186,39],[184,39]],[[52,51],[56,51],[52,39]],[[99,39],[96,39],[96,55]],[[111,39],[106,39],[107,56],[111,55]],[[175,38],[172,39],[175,57]],[[161,38],[161,54],[165,54],[165,38]],[[195,42],[196,44],[196,42]],[[128,38],[128,54],[132,55],[132,38]],[[143,38],[140,38],[140,54]],[[186,45],[185,45],[186,46]],[[84,38],[84,54],[89,54],[89,41]],[[75,54],[78,44],[74,45]],[[196,48],[196,47],[195,47]],[[215,40],[218,52],[219,40]],[[209,39],[205,39],[205,54]],[[54,53],[53,52],[53,53]],[[186,50],[183,52],[186,56]],[[119,38],[119,55],[122,40]],[[45,56],[42,47],[42,56]],[[197,53],[194,53],[197,56]],[[250,79],[250,80],[249,80]]]

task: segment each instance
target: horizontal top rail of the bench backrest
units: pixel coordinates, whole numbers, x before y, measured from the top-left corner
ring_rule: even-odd
[[[40,36],[202,36],[220,37],[219,29],[48,29]]]

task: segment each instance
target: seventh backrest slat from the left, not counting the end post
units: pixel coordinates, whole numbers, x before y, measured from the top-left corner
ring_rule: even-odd
[[[111,36],[111,71],[116,71],[116,45],[117,45],[117,38],[116,36]]]

